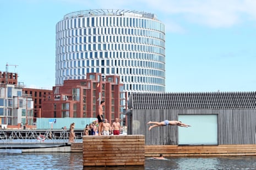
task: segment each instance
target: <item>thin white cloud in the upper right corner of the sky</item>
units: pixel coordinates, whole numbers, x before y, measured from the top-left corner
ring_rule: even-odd
[[[253,0],[149,0],[147,2],[148,7],[154,7],[168,18],[179,15],[191,23],[214,28],[233,26],[249,18],[256,19],[256,1]]]

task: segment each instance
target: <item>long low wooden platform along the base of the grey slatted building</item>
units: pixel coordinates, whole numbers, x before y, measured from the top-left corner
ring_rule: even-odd
[[[256,156],[256,145],[146,145],[145,156]]]

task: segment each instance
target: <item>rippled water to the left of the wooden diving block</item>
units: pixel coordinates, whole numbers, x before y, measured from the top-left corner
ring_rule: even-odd
[[[83,155],[57,152],[3,153],[0,167],[1,169],[83,169]]]

